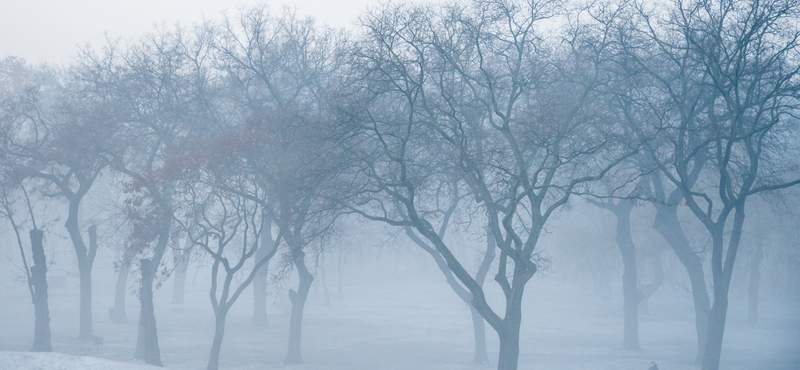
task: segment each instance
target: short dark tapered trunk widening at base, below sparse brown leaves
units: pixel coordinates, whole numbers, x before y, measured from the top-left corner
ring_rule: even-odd
[[[161,365],[161,353],[158,348],[158,333],[156,332],[156,316],[153,309],[153,268],[149,259],[143,259],[142,286],[139,291],[141,311],[139,312],[139,336],[136,344],[134,358],[144,360],[150,365]]]

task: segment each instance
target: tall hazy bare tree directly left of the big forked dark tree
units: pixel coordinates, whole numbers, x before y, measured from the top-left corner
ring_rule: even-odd
[[[250,119],[250,135],[262,140],[252,167],[277,199],[273,220],[289,248],[286,261],[299,277],[298,289],[289,291],[285,363],[302,363],[302,317],[314,279],[303,249],[324,236],[335,217],[324,197],[336,167],[336,156],[325,152],[333,146],[326,142],[324,102],[338,68],[337,40],[335,32],[292,10],[272,15],[254,7],[227,19],[216,42],[217,65],[232,85],[234,104]]]

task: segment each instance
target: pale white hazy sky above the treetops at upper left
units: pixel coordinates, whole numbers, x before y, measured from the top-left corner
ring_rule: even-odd
[[[14,55],[29,62],[66,63],[78,45],[99,47],[105,33],[135,38],[154,24],[189,25],[203,17],[218,19],[221,12],[257,0],[0,0],[0,58]],[[260,1],[273,9],[294,5],[302,15],[336,27],[353,23],[358,14],[378,0]]]

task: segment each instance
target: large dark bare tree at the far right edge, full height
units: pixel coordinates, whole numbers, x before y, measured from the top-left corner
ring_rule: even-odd
[[[747,198],[800,182],[791,159],[798,9],[793,1],[676,1],[638,7],[633,18],[640,44],[628,55],[663,99],[650,104],[658,119],[649,126],[664,137],[651,153],[712,240],[704,370],[719,368]]]

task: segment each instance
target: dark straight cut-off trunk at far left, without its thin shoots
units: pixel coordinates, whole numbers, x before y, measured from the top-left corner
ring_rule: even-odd
[[[47,305],[47,263],[44,256],[44,245],[41,230],[31,230],[31,249],[33,250],[33,266],[31,266],[31,283],[33,285],[33,309],[35,323],[33,331],[32,352],[52,352],[50,344],[50,308]]]

